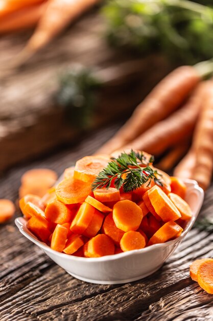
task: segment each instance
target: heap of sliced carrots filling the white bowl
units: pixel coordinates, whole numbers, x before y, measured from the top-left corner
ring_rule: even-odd
[[[192,217],[184,183],[160,172],[162,185],[152,180],[124,192],[112,180],[92,192],[92,182],[109,162],[109,155],[83,157],[64,171],[51,197],[21,198],[29,230],[53,250],[82,257],[142,249],[180,236]]]

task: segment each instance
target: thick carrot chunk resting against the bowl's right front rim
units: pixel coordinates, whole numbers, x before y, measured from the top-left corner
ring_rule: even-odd
[[[150,238],[148,245],[167,242],[171,238],[177,237],[177,235],[182,231],[182,227],[171,220],[157,230],[157,232]]]

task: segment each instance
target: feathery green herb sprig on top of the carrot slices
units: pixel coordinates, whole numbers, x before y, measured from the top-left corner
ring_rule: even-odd
[[[105,187],[108,189],[113,182],[114,187],[119,190],[123,186],[124,192],[131,192],[142,184],[149,185],[153,179],[155,184],[163,186],[161,175],[154,170],[150,163],[153,163],[154,156],[147,159],[143,152],[121,153],[99,173],[91,185],[91,190]],[[125,174],[125,175],[124,175]]]

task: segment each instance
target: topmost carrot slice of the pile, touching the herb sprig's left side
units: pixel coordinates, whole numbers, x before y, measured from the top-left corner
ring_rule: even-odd
[[[108,165],[108,156],[86,156],[76,162],[74,177],[83,182],[93,182],[98,174]]]

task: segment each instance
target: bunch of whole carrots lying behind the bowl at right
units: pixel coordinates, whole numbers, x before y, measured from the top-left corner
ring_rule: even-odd
[[[174,174],[206,190],[213,171],[213,82],[202,78],[210,71],[211,61],[172,71],[97,153],[146,150],[161,156],[158,167],[167,171],[190,148]]]

